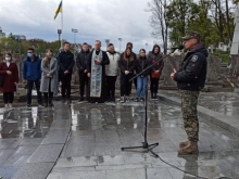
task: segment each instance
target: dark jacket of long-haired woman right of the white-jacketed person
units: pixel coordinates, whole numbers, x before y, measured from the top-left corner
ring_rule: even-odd
[[[118,67],[121,73],[125,74],[125,71],[129,71],[130,74],[134,74],[136,66],[136,54],[133,53],[134,60],[124,60],[124,53],[122,53],[121,59],[118,61]]]

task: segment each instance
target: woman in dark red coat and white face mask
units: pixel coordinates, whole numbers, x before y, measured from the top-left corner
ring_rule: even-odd
[[[7,53],[0,64],[0,75],[4,76],[3,85],[0,88],[3,92],[4,107],[12,108],[14,92],[18,84],[18,69],[16,64],[12,62],[11,53]]]

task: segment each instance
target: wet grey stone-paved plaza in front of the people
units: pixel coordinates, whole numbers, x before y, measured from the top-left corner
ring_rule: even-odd
[[[54,110],[22,107],[1,111],[0,117],[4,179],[196,178],[142,150],[121,151],[143,141],[142,103],[83,102],[68,107],[56,102]],[[160,143],[154,152],[164,161],[205,178],[239,178],[239,141],[231,131],[200,118],[199,155],[179,157],[178,143],[187,140],[180,107],[150,101],[148,123],[149,143]]]

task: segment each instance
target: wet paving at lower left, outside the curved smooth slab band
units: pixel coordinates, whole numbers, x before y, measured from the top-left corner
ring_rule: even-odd
[[[0,177],[12,178],[37,151],[53,122],[53,110],[0,110]]]

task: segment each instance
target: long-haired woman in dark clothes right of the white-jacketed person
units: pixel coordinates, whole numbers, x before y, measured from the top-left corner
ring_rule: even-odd
[[[125,103],[129,100],[131,90],[131,81],[129,80],[133,78],[135,71],[135,56],[130,48],[127,48],[121,55],[118,67],[121,69],[121,102]]]

